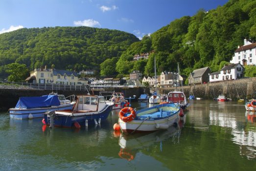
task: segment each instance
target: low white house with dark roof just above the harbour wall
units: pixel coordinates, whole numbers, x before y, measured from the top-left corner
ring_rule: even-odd
[[[209,74],[209,82],[220,82],[243,78],[244,67],[242,64],[229,64],[220,71]]]

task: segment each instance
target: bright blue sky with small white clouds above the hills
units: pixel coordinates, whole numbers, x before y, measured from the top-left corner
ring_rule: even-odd
[[[228,0],[0,0],[0,34],[19,28],[89,26],[141,39],[171,21]]]

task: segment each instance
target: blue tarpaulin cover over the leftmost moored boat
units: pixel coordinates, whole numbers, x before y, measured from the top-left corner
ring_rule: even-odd
[[[58,95],[45,95],[40,97],[20,97],[16,108],[36,108],[60,106]]]

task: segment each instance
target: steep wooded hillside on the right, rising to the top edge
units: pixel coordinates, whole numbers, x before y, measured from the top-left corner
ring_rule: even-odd
[[[116,71],[127,74],[139,69],[152,75],[154,57],[158,74],[176,70],[177,63],[186,75],[205,66],[217,71],[222,61],[230,62],[245,38],[256,40],[256,0],[230,0],[217,9],[200,9],[192,17],[172,21],[141,42],[131,44],[116,63]],[[155,53],[148,60],[132,61],[133,55],[151,50]]]

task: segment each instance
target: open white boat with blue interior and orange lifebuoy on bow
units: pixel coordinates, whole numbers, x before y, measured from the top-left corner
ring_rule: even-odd
[[[136,111],[132,107],[120,110],[118,123],[125,133],[150,132],[177,126],[183,111],[179,105],[165,103]]]

